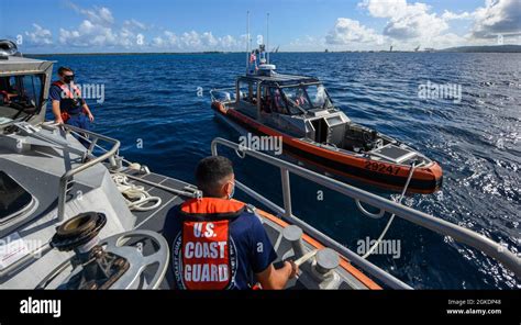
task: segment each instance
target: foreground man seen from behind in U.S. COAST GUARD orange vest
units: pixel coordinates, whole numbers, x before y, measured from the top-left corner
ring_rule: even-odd
[[[232,162],[208,157],[196,168],[202,199],[170,210],[163,229],[171,248],[177,289],[284,289],[298,272],[293,262],[276,269],[277,254],[252,208],[232,200]]]

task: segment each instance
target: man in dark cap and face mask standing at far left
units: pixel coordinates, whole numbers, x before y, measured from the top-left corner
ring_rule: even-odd
[[[95,116],[81,98],[80,89],[74,83],[74,71],[67,67],[59,67],[58,77],[59,80],[53,82],[49,89],[56,123],[89,130],[89,122],[93,122]]]

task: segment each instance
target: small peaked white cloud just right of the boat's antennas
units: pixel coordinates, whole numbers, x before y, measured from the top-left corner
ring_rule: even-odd
[[[374,30],[362,25],[358,21],[339,18],[328,35],[325,42],[331,45],[347,45],[352,43],[381,43],[383,36]]]

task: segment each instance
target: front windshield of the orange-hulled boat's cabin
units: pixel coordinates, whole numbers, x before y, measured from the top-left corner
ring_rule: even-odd
[[[328,109],[331,100],[322,85],[282,88],[291,114],[304,113],[312,109]]]

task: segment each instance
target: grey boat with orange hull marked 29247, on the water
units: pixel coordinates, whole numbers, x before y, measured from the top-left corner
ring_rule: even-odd
[[[428,194],[442,186],[436,161],[351,121],[314,77],[277,74],[262,61],[240,76],[235,88],[214,89],[211,96],[215,114],[240,132],[279,141],[284,154],[323,171],[392,191],[401,191],[412,171],[409,193]]]

